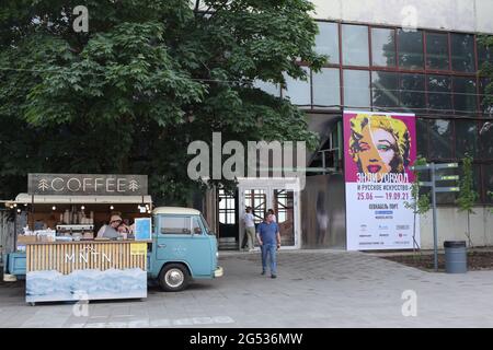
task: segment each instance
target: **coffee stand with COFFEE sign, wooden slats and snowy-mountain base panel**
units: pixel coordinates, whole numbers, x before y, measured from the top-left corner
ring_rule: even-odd
[[[26,302],[147,296],[149,232],[115,240],[98,230],[118,214],[148,219],[147,176],[30,174],[26,194],[7,202],[26,218],[5,271],[25,271]]]

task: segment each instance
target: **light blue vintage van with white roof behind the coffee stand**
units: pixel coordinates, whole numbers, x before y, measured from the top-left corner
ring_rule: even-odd
[[[161,207],[152,211],[152,243],[148,244],[148,278],[162,290],[184,290],[191,280],[221,277],[216,235],[198,210]],[[25,253],[12,253],[4,280],[25,277]]]

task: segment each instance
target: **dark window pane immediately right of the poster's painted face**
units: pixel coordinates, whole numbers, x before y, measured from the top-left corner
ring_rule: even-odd
[[[432,159],[451,159],[452,121],[435,119],[429,124],[429,156]]]

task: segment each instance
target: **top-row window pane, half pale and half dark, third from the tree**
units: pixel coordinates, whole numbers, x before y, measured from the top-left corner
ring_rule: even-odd
[[[394,30],[371,28],[371,55],[374,66],[395,66]]]

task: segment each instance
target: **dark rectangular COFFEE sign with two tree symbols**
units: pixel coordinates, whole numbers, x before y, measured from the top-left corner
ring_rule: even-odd
[[[28,174],[30,195],[146,196],[147,175]]]

